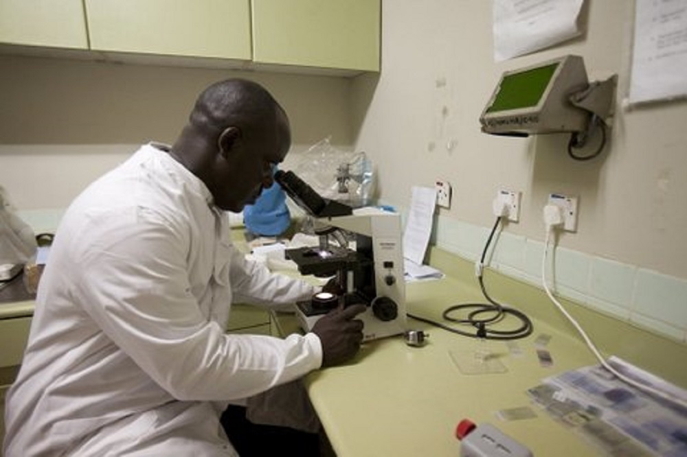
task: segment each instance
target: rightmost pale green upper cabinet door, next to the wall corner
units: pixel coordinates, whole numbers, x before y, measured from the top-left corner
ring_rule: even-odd
[[[379,71],[380,0],[253,0],[255,62]]]

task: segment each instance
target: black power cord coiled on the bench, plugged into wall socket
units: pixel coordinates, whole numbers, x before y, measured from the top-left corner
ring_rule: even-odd
[[[501,216],[496,218],[496,222],[494,223],[494,226],[491,229],[491,233],[489,233],[489,237],[486,241],[486,244],[484,245],[484,250],[482,250],[482,257],[480,258],[480,265],[478,267],[479,273],[477,274],[477,280],[480,282],[480,288],[482,289],[482,294],[484,295],[484,298],[486,298],[486,300],[489,303],[460,303],[458,305],[453,305],[448,307],[447,309],[444,309],[444,312],[442,314],[442,318],[448,320],[449,322],[461,325],[471,325],[475,327],[476,330],[474,332],[460,330],[450,325],[436,322],[435,320],[415,316],[414,314],[408,314],[409,318],[420,320],[421,322],[427,324],[435,325],[436,327],[440,327],[444,330],[451,331],[453,333],[458,333],[462,336],[469,336],[471,338],[482,338],[486,340],[517,340],[519,338],[525,338],[526,336],[532,333],[532,321],[530,320],[530,318],[526,316],[526,314],[518,311],[515,308],[508,307],[502,305],[501,303],[498,303],[493,298],[491,298],[491,296],[489,296],[489,294],[486,292],[486,287],[484,286],[484,279],[482,278],[482,268],[484,267],[484,260],[486,259],[486,253],[489,249],[489,246],[493,241],[496,229],[498,229],[501,222]],[[465,318],[455,318],[452,316],[452,314],[454,314],[455,312],[465,311],[466,309],[472,309],[472,311],[469,312]],[[482,317],[482,315],[484,314],[487,314],[487,316]],[[515,318],[517,318],[520,321],[521,325],[519,325],[519,327],[516,327],[515,329],[507,330],[495,330],[489,329],[487,327],[488,325],[503,320],[506,317],[506,315],[515,316]],[[478,318],[477,316],[480,316],[480,318]]]

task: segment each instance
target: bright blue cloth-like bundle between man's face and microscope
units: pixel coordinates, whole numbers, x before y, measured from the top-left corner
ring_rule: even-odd
[[[284,189],[277,183],[263,189],[255,204],[243,208],[243,223],[255,235],[275,237],[284,233],[291,224]]]

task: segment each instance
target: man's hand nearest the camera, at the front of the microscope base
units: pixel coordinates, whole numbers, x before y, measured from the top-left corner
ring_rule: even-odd
[[[365,309],[365,305],[333,309],[313,325],[313,333],[322,342],[323,368],[346,362],[358,352],[363,341],[363,321],[354,317]]]

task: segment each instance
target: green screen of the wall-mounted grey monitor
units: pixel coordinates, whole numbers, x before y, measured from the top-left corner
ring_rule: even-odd
[[[504,76],[499,93],[486,112],[537,106],[558,66],[558,63],[554,63]]]

